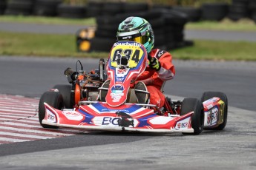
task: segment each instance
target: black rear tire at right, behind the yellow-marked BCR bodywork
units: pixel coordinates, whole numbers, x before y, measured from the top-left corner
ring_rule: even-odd
[[[210,98],[220,98],[221,101],[225,103],[225,109],[224,109],[224,120],[223,123],[217,126],[216,128],[212,130],[223,130],[226,126],[227,120],[228,120],[228,98],[223,92],[204,92],[201,98],[201,101],[207,101]]]

